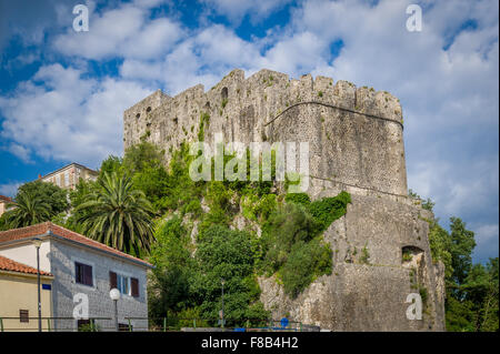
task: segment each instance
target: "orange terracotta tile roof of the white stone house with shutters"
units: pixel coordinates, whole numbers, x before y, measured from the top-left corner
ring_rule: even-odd
[[[17,241],[17,240],[22,240],[22,239],[28,239],[28,237],[33,237],[33,236],[39,236],[42,234],[47,234],[47,233],[51,233],[54,234],[57,236],[60,237],[64,237],[67,240],[71,240],[81,244],[84,244],[87,246],[90,246],[92,249],[97,249],[97,250],[101,250],[114,255],[118,255],[120,257],[124,257],[124,259],[129,259],[131,261],[141,263],[146,266],[152,267],[152,265],[141,259],[134,257],[130,254],[120,252],[113,247],[107,246],[106,244],[102,244],[98,241],[91,240],[87,236],[83,236],[77,232],[73,232],[71,230],[64,229],[62,226],[56,225],[51,222],[44,222],[41,224],[36,224],[32,226],[27,226],[27,227],[20,227],[20,229],[13,229],[13,230],[8,230],[8,231],[2,231],[0,232],[0,245],[3,242],[9,242],[9,241]]]

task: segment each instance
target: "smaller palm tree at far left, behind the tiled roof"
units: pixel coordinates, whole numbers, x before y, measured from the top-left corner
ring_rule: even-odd
[[[12,206],[6,212],[6,221],[10,229],[34,225],[50,220],[51,208],[41,196],[19,192],[14,202],[7,205]]]

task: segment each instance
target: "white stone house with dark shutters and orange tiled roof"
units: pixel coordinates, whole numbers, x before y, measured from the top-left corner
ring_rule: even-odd
[[[101,331],[114,330],[114,303],[109,295],[113,287],[121,292],[120,327],[128,331],[130,324],[133,331],[148,328],[147,272],[153,267],[150,263],[50,222],[0,232],[0,256],[36,269],[33,239],[42,240],[40,270],[53,276],[51,286],[43,289],[51,293],[52,330],[77,331],[82,324],[90,324],[92,320],[73,316],[74,307],[82,304],[81,297],[88,299],[90,318],[109,318],[93,320],[92,325]]]

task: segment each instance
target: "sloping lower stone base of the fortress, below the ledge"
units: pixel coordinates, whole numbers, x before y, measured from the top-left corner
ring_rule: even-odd
[[[323,191],[321,196],[338,192]],[[332,273],[318,277],[297,299],[287,296],[273,276],[259,277],[260,300],[273,318],[288,316],[332,331],[443,331],[443,269],[430,257],[428,224],[420,218],[424,212],[383,198],[352,195],[346,215],[324,232],[333,251]],[[402,260],[408,245],[423,251],[414,264],[414,282]],[[367,263],[361,261],[363,247]],[[410,321],[406,300],[419,286],[428,300],[422,321]]]

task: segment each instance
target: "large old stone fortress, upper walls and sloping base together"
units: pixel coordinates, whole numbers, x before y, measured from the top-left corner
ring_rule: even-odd
[[[224,142],[246,144],[307,141],[311,199],[352,196],[324,232],[331,275],[293,300],[274,279],[259,279],[273,318],[331,331],[444,330],[444,269],[429,249],[426,220],[433,215],[408,196],[398,99],[324,77],[261,70],[246,79],[233,70],[207,92],[201,84],[173,98],[158,90],[123,114],[124,148],[147,140],[164,149],[166,162],[200,130],[208,143],[220,132]],[[407,317],[410,293],[421,294],[422,320]]]

